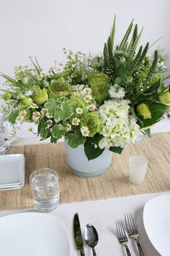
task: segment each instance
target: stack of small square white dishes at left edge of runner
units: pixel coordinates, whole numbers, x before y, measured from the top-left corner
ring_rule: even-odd
[[[16,187],[24,183],[23,154],[0,155],[0,187]]]

